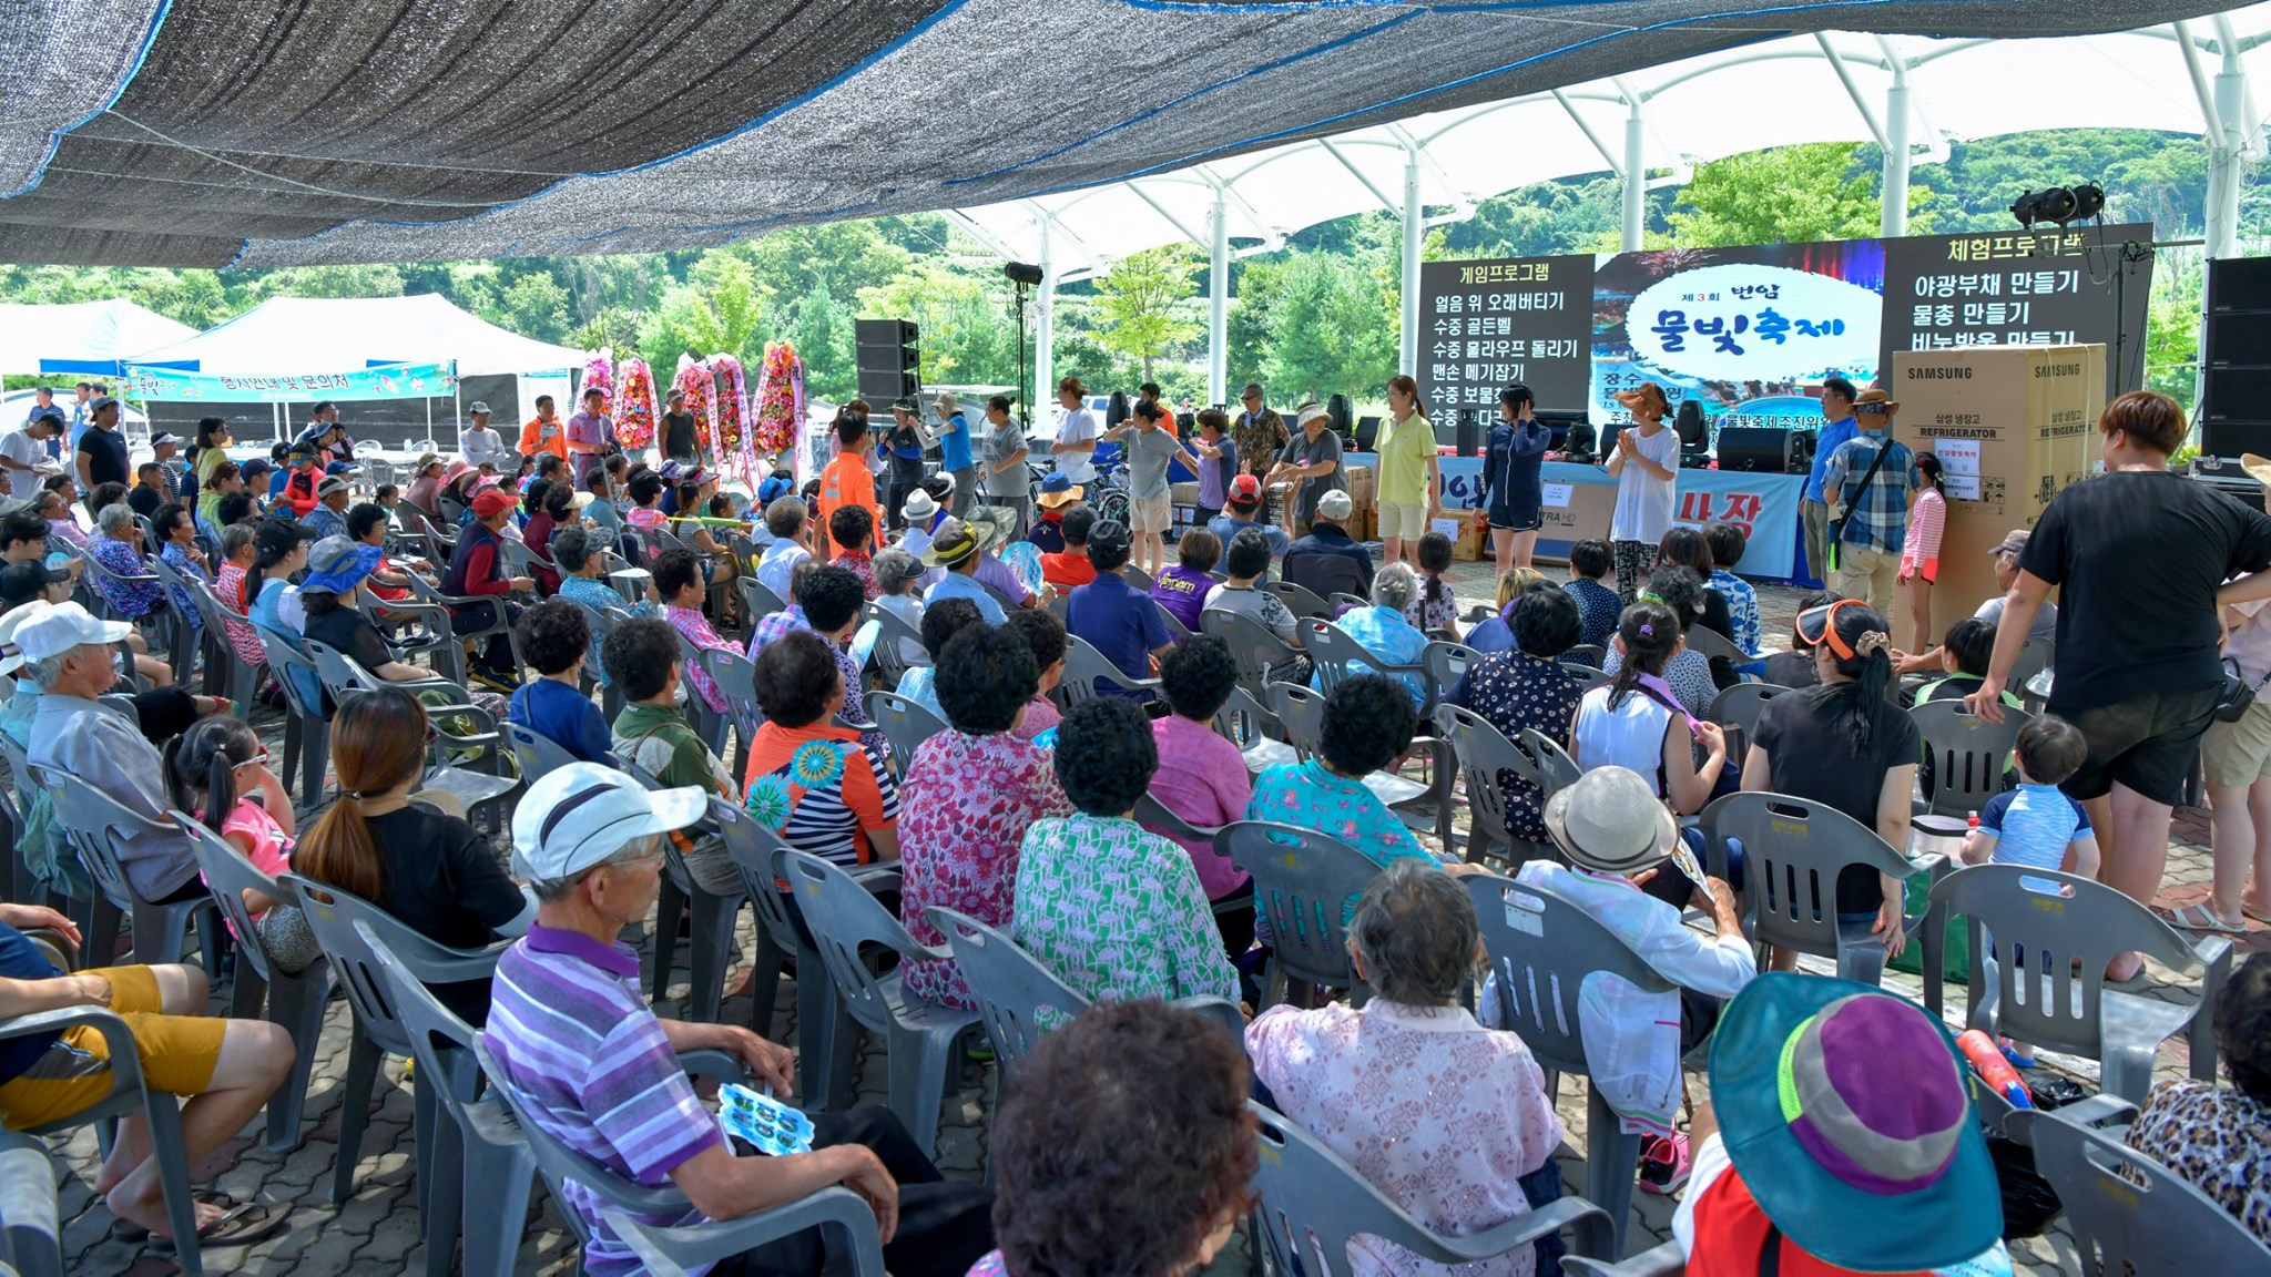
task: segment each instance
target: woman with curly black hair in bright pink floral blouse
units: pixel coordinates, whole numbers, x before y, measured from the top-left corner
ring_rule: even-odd
[[[931,904],[1008,927],[1020,838],[1036,820],[1072,816],[1049,752],[1015,736],[1038,684],[1033,652],[1006,625],[972,625],[938,654],[949,727],[915,745],[899,809],[899,920],[924,945],[947,943],[922,916]],[[952,959],[899,973],[924,1002],[974,1004]]]

